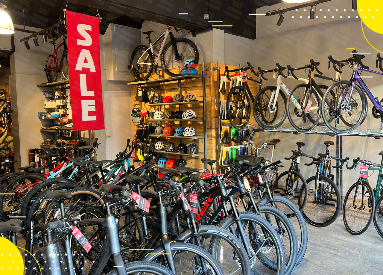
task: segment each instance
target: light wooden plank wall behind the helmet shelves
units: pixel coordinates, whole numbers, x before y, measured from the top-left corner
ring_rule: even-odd
[[[218,151],[218,96],[217,96],[217,73],[216,71],[213,72],[212,68],[217,67],[217,63],[207,63],[205,64],[205,67],[209,67],[209,71],[206,72],[206,117],[207,117],[207,147],[208,147],[208,158],[218,160],[219,158],[219,151]],[[219,65],[221,73],[224,72],[225,64]],[[235,69],[238,68],[238,66],[231,66],[228,65],[229,69]],[[202,72],[202,64],[197,65],[197,71],[199,73]],[[256,78],[256,76],[250,74],[250,77]],[[165,74],[164,77],[169,77]],[[152,74],[150,79],[157,79],[157,75]],[[229,85],[230,83],[226,83],[226,93],[229,92]],[[203,92],[202,92],[202,78],[196,78],[196,79],[187,79],[182,81],[182,94],[185,95],[188,92],[192,92],[196,96],[196,100],[203,101]],[[257,83],[249,81],[250,89],[252,90],[253,95],[257,93]],[[157,85],[154,86],[155,91],[158,94],[157,91]],[[150,91],[150,89],[149,89]],[[132,106],[134,104],[138,104],[139,102],[135,101],[137,93],[137,86],[132,86],[131,88],[131,95],[132,95]],[[178,81],[174,82],[166,82],[160,84],[160,94],[162,96],[172,96],[174,97],[175,94],[178,93]],[[221,96],[221,100],[224,99],[225,96]],[[144,102],[141,102],[142,107],[146,107],[147,110],[150,111],[151,106],[148,106],[147,104],[144,104]],[[188,110],[193,109],[196,112],[197,118],[203,118],[203,105],[202,104],[183,104],[182,110]],[[169,106],[158,106],[160,110],[164,111],[177,111],[178,105],[169,105]],[[156,109],[157,110],[157,109]],[[256,124],[254,117],[250,119],[250,123],[252,125]],[[162,124],[162,126],[166,125],[172,125],[174,128],[177,128],[180,123],[179,122],[165,122]],[[221,125],[230,125],[228,120],[221,120]],[[196,130],[196,135],[203,135],[203,122],[182,122],[183,127],[192,126]],[[137,130],[136,125],[133,124],[133,133],[135,133]],[[133,134],[134,135],[134,134]],[[179,138],[172,138],[171,136],[169,138],[162,138],[164,142],[173,142],[175,146],[177,146],[180,143]],[[257,135],[254,137],[254,142],[257,143]],[[199,151],[204,150],[204,140],[203,139],[195,139],[191,140],[188,138],[183,138],[183,143],[189,145],[190,143],[196,143],[196,145],[199,148]],[[234,143],[232,144],[234,145]],[[226,145],[227,146],[227,145]],[[170,156],[166,155],[167,158],[174,157],[179,158],[178,156]],[[201,158],[204,156],[196,156],[195,158],[190,158],[187,156],[184,156],[183,158],[187,161],[188,167],[196,167],[196,168],[203,168],[203,163],[200,161]],[[218,166],[217,166],[218,167]]]

